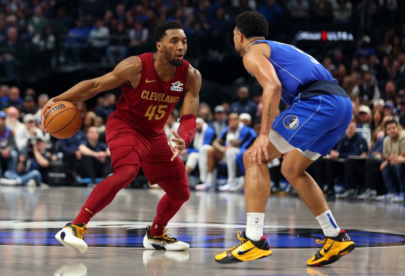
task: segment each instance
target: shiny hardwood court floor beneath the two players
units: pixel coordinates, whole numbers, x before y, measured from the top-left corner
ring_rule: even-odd
[[[144,250],[163,191],[120,191],[89,223],[89,250],[65,248],[54,234],[81,208],[90,188],[0,187],[0,276],[118,275],[405,275],[405,207],[377,202],[329,202],[341,228],[357,248],[329,267],[308,268],[319,248],[317,221],[298,198],[271,196],[265,234],[273,255],[220,265],[214,255],[238,242],[245,229],[242,194],[192,192],[169,224],[169,232],[191,246],[185,252]]]

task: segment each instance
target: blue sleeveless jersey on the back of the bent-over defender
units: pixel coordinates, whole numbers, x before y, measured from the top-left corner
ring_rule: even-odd
[[[267,40],[258,40],[253,44],[259,43],[270,46],[269,61],[280,80],[281,100],[286,104],[291,105],[303,87],[315,81],[333,81],[337,84],[322,64],[297,47]]]

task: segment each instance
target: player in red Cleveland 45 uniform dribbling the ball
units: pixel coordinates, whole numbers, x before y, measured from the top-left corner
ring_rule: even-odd
[[[171,251],[189,248],[188,244],[167,234],[165,227],[190,196],[185,167],[177,155],[195,134],[201,75],[183,59],[187,37],[180,23],[160,23],[154,40],[155,53],[129,57],[112,72],[80,82],[50,99],[42,109],[44,124],[44,113],[55,102],[85,101],[123,85],[116,110],[106,123],[114,174],[93,189],[77,217],[55,235],[61,244],[74,247],[80,253],[87,250],[83,236],[89,220],[106,207],[120,189],[130,184],[139,167],[150,183],[157,183],[166,192],[157,204],[152,226],[146,228],[144,247]],[[173,132],[172,141],[176,145],[172,148],[163,128],[183,96],[181,123],[178,134]]]

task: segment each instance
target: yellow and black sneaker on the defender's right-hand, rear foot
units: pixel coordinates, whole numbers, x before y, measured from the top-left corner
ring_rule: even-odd
[[[334,263],[356,247],[345,230],[341,230],[337,236],[326,236],[323,241],[316,240],[316,243],[323,244],[323,246],[307,261],[308,266],[322,266]]]

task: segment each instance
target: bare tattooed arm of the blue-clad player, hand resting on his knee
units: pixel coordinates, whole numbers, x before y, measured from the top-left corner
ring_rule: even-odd
[[[281,83],[269,58],[270,48],[267,44],[252,46],[244,56],[246,70],[256,77],[263,88],[262,125],[258,137],[248,150],[248,153],[252,154],[252,164],[257,162],[259,165],[262,163],[263,157],[264,160],[269,158],[267,152],[269,133],[281,98]]]

